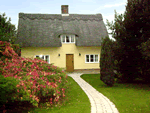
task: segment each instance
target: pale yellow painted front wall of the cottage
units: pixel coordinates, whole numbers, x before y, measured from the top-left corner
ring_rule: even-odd
[[[50,55],[50,63],[66,68],[66,54],[74,54],[74,69],[99,69],[99,63],[85,63],[85,55],[98,54],[100,59],[100,50],[101,47],[78,47],[74,43],[62,44],[62,47],[25,47],[21,49],[21,57]]]

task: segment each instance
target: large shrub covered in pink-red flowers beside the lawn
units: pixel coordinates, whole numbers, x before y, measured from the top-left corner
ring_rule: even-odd
[[[0,58],[0,75],[17,80],[16,86],[10,90],[12,93],[3,101],[4,105],[13,100],[29,101],[36,107],[42,103],[52,106],[65,97],[67,75],[61,68],[44,60],[19,57],[7,42],[0,41],[0,45],[3,45],[0,51],[3,54]]]

